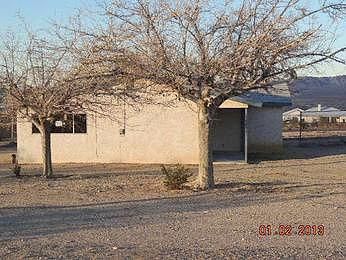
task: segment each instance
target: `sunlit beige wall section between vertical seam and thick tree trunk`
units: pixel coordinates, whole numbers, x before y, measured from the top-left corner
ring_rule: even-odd
[[[185,104],[173,108],[147,107],[129,115],[125,136],[110,120],[98,128],[102,161],[127,163],[196,163],[197,114]],[[110,134],[110,133],[112,134]]]

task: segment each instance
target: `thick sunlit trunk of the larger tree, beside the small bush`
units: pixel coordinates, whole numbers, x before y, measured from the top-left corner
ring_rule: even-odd
[[[199,167],[198,188],[202,190],[214,187],[213,173],[213,132],[210,111],[204,103],[198,104],[198,142]]]

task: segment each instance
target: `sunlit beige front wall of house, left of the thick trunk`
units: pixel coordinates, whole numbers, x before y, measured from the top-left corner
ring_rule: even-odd
[[[89,114],[86,134],[52,134],[53,162],[197,162],[197,114],[191,104],[127,110],[124,136],[119,134],[121,117],[116,122]],[[22,120],[18,121],[17,152],[20,163],[41,161],[40,135],[32,134],[31,123]]]

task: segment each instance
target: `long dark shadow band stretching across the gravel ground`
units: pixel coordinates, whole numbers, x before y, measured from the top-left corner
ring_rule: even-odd
[[[278,202],[311,200],[346,192],[344,183],[220,183],[217,189],[181,197],[114,201],[74,206],[0,208],[0,241],[37,238],[95,228],[131,227],[178,221],[181,214],[204,214]],[[189,215],[191,216],[191,215]],[[181,220],[181,219],[180,219]]]

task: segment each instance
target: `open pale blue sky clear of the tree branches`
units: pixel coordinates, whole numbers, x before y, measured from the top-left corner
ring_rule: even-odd
[[[314,0],[309,0],[314,1]],[[24,21],[35,28],[45,28],[51,19],[66,22],[78,8],[95,6],[94,0],[0,0],[0,33],[20,29]],[[346,46],[346,19],[337,31],[336,47]],[[346,55],[346,54],[345,54]],[[346,75],[346,66],[340,64],[325,64],[319,66],[319,71],[302,72],[311,76]]]

